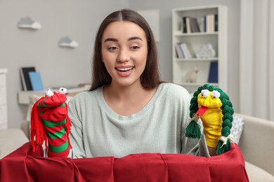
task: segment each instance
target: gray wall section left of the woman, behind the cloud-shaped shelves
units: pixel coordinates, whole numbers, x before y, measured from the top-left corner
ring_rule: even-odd
[[[20,127],[26,117],[27,106],[18,104],[20,66],[35,66],[45,87],[89,82],[92,44],[100,22],[113,10],[128,7],[128,0],[1,0],[0,67],[8,69],[8,127]],[[42,28],[18,29],[18,21],[26,16]],[[61,36],[70,36],[79,47],[58,47]]]

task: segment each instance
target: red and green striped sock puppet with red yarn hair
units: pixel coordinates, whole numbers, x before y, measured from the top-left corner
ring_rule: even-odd
[[[48,157],[67,157],[72,148],[70,144],[70,118],[67,115],[67,90],[46,91],[32,106],[31,140],[33,151],[45,141]]]

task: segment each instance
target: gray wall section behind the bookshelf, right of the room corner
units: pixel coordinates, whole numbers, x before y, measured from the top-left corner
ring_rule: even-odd
[[[228,95],[233,108],[239,108],[239,64],[240,64],[240,1],[239,0],[129,0],[129,7],[135,10],[158,9],[160,14],[160,41],[157,43],[162,78],[172,80],[172,8],[224,5],[228,7]]]

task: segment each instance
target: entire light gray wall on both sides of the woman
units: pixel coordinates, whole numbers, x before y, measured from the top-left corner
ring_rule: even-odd
[[[35,66],[45,87],[76,85],[91,78],[91,55],[98,25],[105,16],[120,8],[159,9],[159,65],[162,78],[171,81],[171,9],[223,4],[228,6],[228,92],[237,111],[240,34],[238,0],[101,0],[101,1],[0,1],[0,67],[8,69],[8,127],[20,127],[27,106],[18,104],[20,66]],[[41,23],[37,31],[18,29],[20,18],[30,16]],[[61,36],[79,43],[75,49],[60,48]]]

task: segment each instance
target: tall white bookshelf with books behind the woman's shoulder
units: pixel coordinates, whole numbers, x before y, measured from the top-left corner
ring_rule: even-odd
[[[215,18],[212,19],[213,15],[215,15]],[[194,32],[191,29],[186,31],[184,26],[189,26],[190,24],[184,23],[185,20],[183,18],[195,18],[200,31],[196,30]],[[206,20],[204,21],[204,19]],[[181,45],[182,43],[187,45],[191,57],[179,57],[176,45]],[[217,62],[218,64],[216,73],[218,79],[214,83],[209,83],[211,62]],[[173,82],[182,85],[188,92],[194,92],[197,90],[197,87],[204,85],[204,83],[221,87],[223,91],[227,91],[226,6],[200,6],[174,8],[172,10],[172,64]],[[195,75],[195,82],[189,82],[188,77],[194,68],[198,69],[198,73]]]

